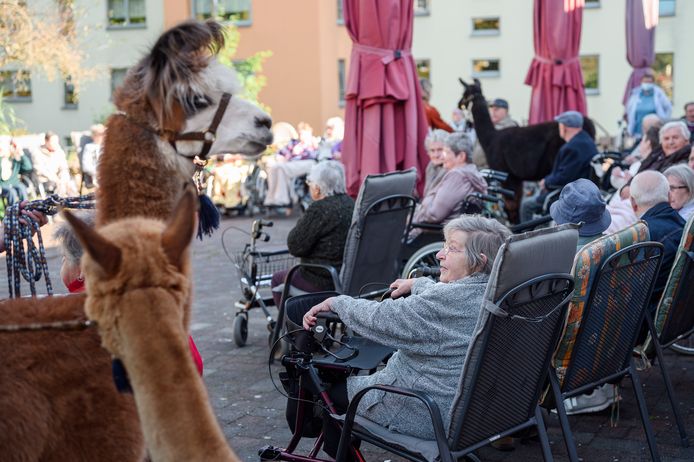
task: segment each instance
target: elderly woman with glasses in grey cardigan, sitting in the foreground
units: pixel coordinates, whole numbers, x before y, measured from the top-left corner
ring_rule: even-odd
[[[343,295],[311,308],[304,316],[306,329],[315,325],[319,312],[333,311],[358,334],[397,349],[382,370],[349,377],[346,390],[339,391],[347,396],[341,399],[331,391],[336,404],[346,403],[370,385],[395,385],[427,393],[445,416],[444,423],[449,422],[492,263],[509,234],[495,220],[469,215],[457,218],[444,228],[446,243],[436,255],[441,261],[440,282],[398,279],[390,286],[394,289],[391,300],[379,303]],[[358,413],[393,431],[434,437],[429,413],[417,400],[372,391],[362,400]],[[333,436],[329,427],[325,428],[326,451]]]

